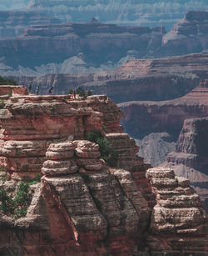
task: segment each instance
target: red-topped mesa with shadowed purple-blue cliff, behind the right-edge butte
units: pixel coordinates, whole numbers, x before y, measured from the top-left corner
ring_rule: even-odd
[[[128,102],[118,106],[125,113],[122,126],[134,138],[149,133],[170,133],[177,139],[187,118],[208,116],[207,80],[184,97],[161,102]]]

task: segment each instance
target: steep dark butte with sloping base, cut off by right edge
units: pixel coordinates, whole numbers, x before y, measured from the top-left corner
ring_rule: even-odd
[[[189,178],[203,200],[208,196],[207,127],[208,118],[186,119],[176,151],[169,153],[164,163],[177,175]]]

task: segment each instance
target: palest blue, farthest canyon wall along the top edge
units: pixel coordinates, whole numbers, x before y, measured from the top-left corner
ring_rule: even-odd
[[[50,12],[62,22],[84,23],[92,17],[98,18],[103,23],[116,23],[157,27],[166,26],[168,31],[174,23],[181,19],[189,10],[207,10],[206,0],[180,1],[176,0],[0,0],[2,10],[30,10]]]

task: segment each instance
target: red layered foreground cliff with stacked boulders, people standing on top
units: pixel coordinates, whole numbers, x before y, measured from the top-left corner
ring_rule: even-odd
[[[206,218],[200,199],[188,188],[188,181],[176,179],[169,169],[149,169],[148,182],[145,175],[150,166],[136,157],[134,140],[121,133],[118,120],[122,113],[109,98],[101,95],[74,100],[69,95],[33,94],[1,97],[0,188],[6,199],[9,195],[11,202],[17,203],[22,181],[30,181],[28,207],[21,216],[12,215],[8,209],[3,212],[1,201],[1,255],[149,256],[155,252],[161,255],[164,248],[170,253],[182,249],[206,255],[206,236],[201,231]],[[116,168],[99,158],[97,143],[85,140],[93,130],[100,130],[118,154]],[[32,182],[41,172],[41,182]],[[156,194],[166,193],[153,210],[156,201],[151,185],[160,188]],[[177,204],[172,203],[172,193],[186,195],[180,196]],[[192,208],[187,206],[189,200]],[[169,212],[163,209],[172,206]],[[168,217],[162,218],[160,209],[156,213],[159,207]],[[194,219],[184,219],[178,207]],[[157,218],[161,219],[160,226]],[[175,229],[170,225],[171,218],[176,218]],[[156,238],[153,227],[159,228],[160,238]],[[162,233],[169,236],[168,248],[164,247]],[[195,241],[192,246],[181,243],[181,236],[187,233],[189,238],[185,240]]]

